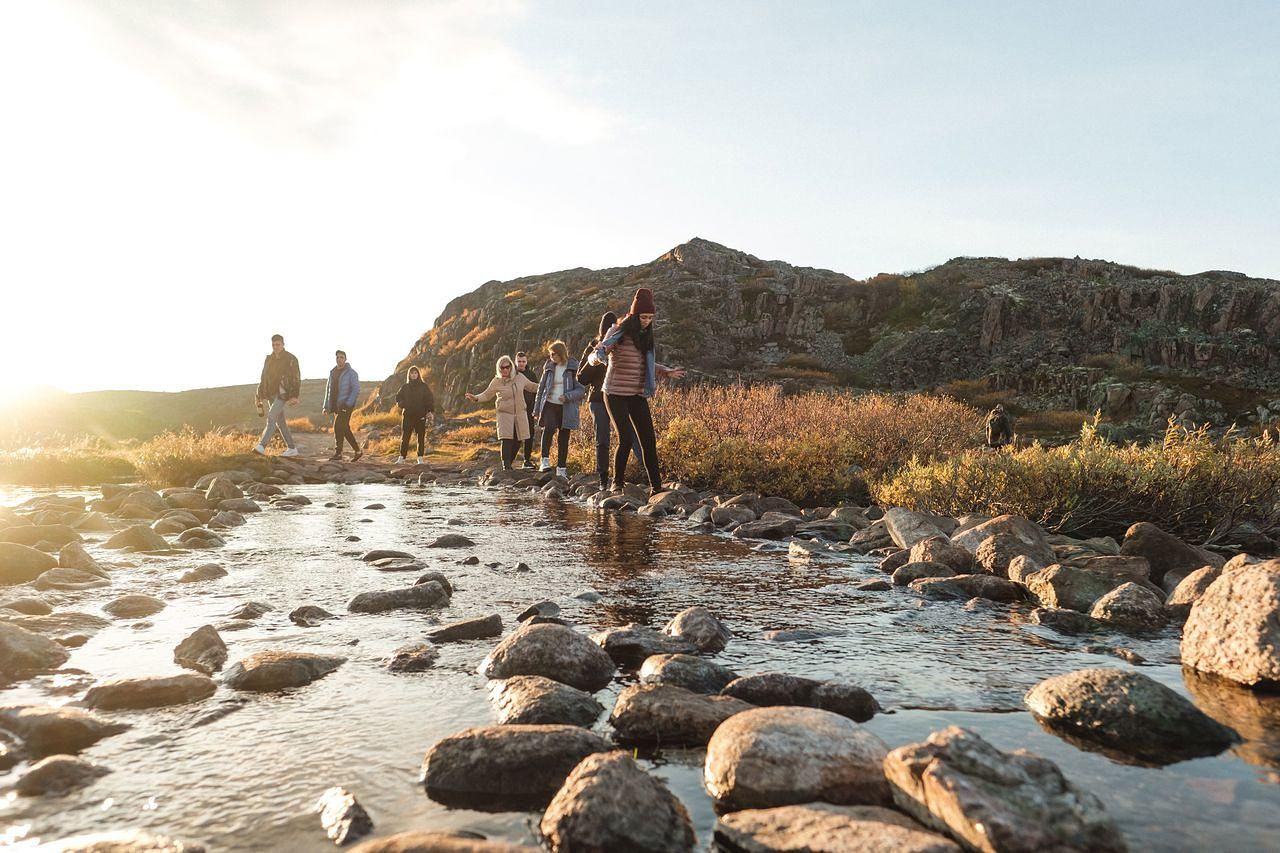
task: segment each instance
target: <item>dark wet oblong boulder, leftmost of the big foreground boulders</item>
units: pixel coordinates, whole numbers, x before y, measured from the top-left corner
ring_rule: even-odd
[[[445,806],[531,811],[545,806],[584,758],[608,751],[604,738],[579,726],[466,729],[426,751],[422,784]]]

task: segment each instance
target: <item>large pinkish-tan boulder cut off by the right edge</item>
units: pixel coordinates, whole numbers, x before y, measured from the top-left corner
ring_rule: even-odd
[[[1249,688],[1280,686],[1280,560],[1224,569],[1187,617],[1181,658]]]

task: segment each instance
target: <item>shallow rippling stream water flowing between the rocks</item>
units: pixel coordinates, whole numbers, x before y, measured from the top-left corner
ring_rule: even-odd
[[[899,589],[859,592],[856,581],[878,576],[868,561],[792,561],[785,551],[753,551],[728,538],[686,533],[680,521],[595,512],[509,491],[314,485],[291,493],[314,503],[251,516],[216,551],[140,557],[90,544],[104,564],[138,565],[114,570],[110,588],[61,596],[59,610],[100,613],[101,605],[125,592],[164,598],[168,607],[148,620],[113,622],[74,649],[61,672],[0,692],[0,704],[69,702],[96,680],[178,672],[173,647],[200,625],[227,621],[227,612],[246,601],[275,610],[252,628],[223,634],[230,661],[268,648],[305,648],[348,662],[289,693],[219,690],[202,703],[110,715],[133,727],[84,757],[113,772],[61,799],[0,799],[0,844],[22,848],[143,827],[211,850],[324,849],[329,841],[311,808],[330,785],[356,793],[378,834],[456,827],[536,843],[536,815],[447,809],[417,783],[428,747],[494,721],[485,681],[475,674],[494,640],[440,646],[435,669],[422,674],[389,674],[381,660],[434,621],[499,612],[509,630],[525,606],[552,598],[582,629],[631,621],[660,628],[677,611],[705,605],[735,634],[721,662],[744,674],[785,670],[858,681],[890,711],[867,725],[891,747],[963,725],[1002,749],[1052,758],[1102,798],[1135,850],[1280,849],[1280,711],[1272,702],[1212,686],[1196,685],[1193,694],[1176,665],[1172,633],[1148,640],[1065,638],[1025,624],[1021,608],[969,611]],[[0,489],[0,505],[32,494]],[[328,501],[338,506],[324,507]],[[362,508],[372,502],[387,508]],[[448,519],[462,524],[448,525]],[[444,532],[465,533],[479,544],[425,547]],[[348,535],[361,540],[344,542]],[[355,593],[407,585],[420,574],[376,571],[357,560],[369,548],[408,551],[444,571],[456,587],[451,606],[431,613],[346,615]],[[480,565],[458,565],[472,553]],[[516,573],[518,561],[532,571]],[[204,562],[230,574],[204,584],[175,583],[178,574]],[[502,565],[490,569],[486,562]],[[600,592],[603,601],[573,598],[584,589]],[[51,601],[58,596],[44,594]],[[301,605],[342,617],[297,628],[288,612]],[[813,642],[763,638],[778,628],[829,634]],[[1148,768],[1047,734],[1023,710],[1023,693],[1050,675],[1129,666],[1100,644],[1138,652],[1148,661],[1142,671],[1193,695],[1251,739],[1215,758]],[[607,708],[625,680],[599,697]],[[596,729],[607,734],[605,716]],[[714,812],[701,789],[701,751],[680,749],[645,762],[684,799],[705,847]],[[12,775],[0,776],[0,790],[12,781]]]

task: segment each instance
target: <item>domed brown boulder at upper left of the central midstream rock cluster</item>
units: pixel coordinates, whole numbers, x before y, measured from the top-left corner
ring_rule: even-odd
[[[564,625],[524,625],[489,653],[480,674],[490,679],[541,675],[580,690],[599,690],[617,667],[604,649]]]

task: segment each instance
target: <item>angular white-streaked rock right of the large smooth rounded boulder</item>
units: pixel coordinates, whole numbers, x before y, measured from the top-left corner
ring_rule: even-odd
[[[895,749],[884,774],[899,808],[972,850],[1126,849],[1102,802],[1075,788],[1057,765],[1025,751],[1001,752],[957,726]]]

